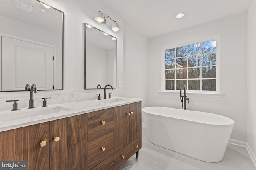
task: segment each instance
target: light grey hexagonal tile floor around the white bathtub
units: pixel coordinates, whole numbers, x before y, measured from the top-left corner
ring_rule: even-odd
[[[135,155],[118,170],[256,170],[244,147],[228,144],[220,162],[203,162],[186,155],[153,145],[142,128],[142,149],[139,158]]]

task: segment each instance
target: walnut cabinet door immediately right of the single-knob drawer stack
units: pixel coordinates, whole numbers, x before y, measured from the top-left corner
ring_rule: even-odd
[[[129,104],[114,107],[114,152],[129,143],[130,116]]]

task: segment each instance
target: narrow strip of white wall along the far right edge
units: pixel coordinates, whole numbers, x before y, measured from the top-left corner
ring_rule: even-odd
[[[256,155],[256,1],[247,12],[247,142]]]

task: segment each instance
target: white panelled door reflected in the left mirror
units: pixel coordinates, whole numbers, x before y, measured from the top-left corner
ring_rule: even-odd
[[[53,89],[54,48],[2,36],[2,91]]]

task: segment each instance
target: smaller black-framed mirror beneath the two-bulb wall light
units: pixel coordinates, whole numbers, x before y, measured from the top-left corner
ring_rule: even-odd
[[[116,88],[116,41],[116,37],[85,23],[85,89],[96,89],[98,84]]]

